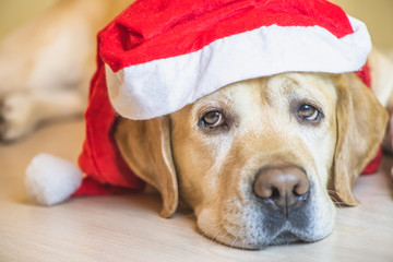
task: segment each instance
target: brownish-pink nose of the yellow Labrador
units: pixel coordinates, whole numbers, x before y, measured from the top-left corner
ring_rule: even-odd
[[[253,186],[255,195],[269,207],[281,210],[286,215],[306,202],[309,188],[306,172],[295,166],[263,168]]]

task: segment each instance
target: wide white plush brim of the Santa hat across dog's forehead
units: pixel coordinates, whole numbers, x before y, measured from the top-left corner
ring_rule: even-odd
[[[116,73],[106,64],[109,98],[121,116],[151,119],[247,79],[289,71],[357,71],[366,63],[371,40],[362,22],[348,19],[354,33],[342,38],[320,26],[271,25]]]

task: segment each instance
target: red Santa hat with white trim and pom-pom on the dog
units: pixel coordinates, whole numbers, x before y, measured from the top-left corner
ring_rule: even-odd
[[[142,189],[114,142],[117,114],[160,117],[227,84],[282,72],[358,71],[370,49],[365,24],[324,0],[139,0],[98,34],[79,162],[86,177],[82,182],[71,168],[69,187],[49,182],[55,172],[36,179],[48,170],[50,156],[41,155],[27,170],[28,187],[40,188],[31,192],[66,190],[36,196],[52,204],[71,194]]]

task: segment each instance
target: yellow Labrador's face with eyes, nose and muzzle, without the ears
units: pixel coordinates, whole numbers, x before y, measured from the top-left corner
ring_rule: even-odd
[[[312,241],[333,227],[326,191],[337,95],[325,75],[231,84],[172,115],[180,198],[236,247]]]

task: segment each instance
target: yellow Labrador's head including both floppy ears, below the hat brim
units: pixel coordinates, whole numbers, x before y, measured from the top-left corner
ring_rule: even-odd
[[[374,156],[386,112],[355,74],[284,73],[230,84],[181,110],[122,119],[120,151],[156,187],[170,216],[181,201],[219,242],[258,249],[315,241]]]

